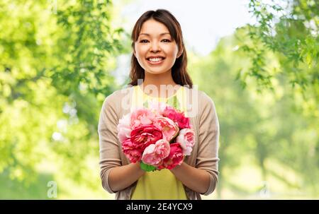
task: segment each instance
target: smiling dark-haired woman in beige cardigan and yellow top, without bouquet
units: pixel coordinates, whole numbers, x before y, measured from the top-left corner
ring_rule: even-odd
[[[142,14],[133,28],[132,40],[132,87],[106,97],[101,109],[103,188],[116,193],[116,199],[201,199],[200,194],[211,194],[218,182],[219,124],[213,100],[193,87],[186,71],[181,27],[172,13],[159,9]],[[194,127],[191,155],[172,170],[141,170],[139,162],[130,163],[125,157],[117,138],[118,120],[150,100],[172,101],[174,107],[186,112]]]

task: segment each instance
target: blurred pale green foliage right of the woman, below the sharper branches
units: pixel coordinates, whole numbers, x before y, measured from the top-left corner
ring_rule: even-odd
[[[276,179],[286,193],[318,196],[319,186],[315,182],[319,175],[318,106],[304,109],[308,102],[303,100],[302,93],[291,90],[286,76],[280,76],[279,80],[270,79],[272,89],[259,91],[256,90],[259,83],[247,78],[243,90],[235,78],[238,68],[249,69],[251,61],[245,57],[246,52],[237,49],[238,42],[242,40],[241,33],[244,33],[243,29],[233,36],[224,37],[208,57],[198,59],[189,69],[191,76],[196,74],[195,83],[199,89],[213,98],[218,112],[219,197],[225,197],[223,190],[226,185],[245,196],[255,194],[256,190],[251,189],[251,185],[233,179],[236,168],[253,165],[258,166],[261,174],[260,184],[268,181],[274,186],[274,182],[270,181]],[[265,66],[279,64],[279,55],[269,51],[265,54]],[[287,171],[292,170],[298,182],[291,182],[288,176],[274,170],[269,162],[278,162]],[[245,182],[250,184],[252,179],[249,176],[247,179],[249,181]],[[274,187],[271,191],[279,194]]]

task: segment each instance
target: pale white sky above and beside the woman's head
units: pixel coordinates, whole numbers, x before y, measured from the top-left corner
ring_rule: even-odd
[[[116,0],[113,4],[118,7],[116,25],[129,33],[145,11],[167,9],[181,24],[186,49],[198,56],[213,51],[220,37],[231,35],[235,28],[254,23],[247,0]],[[118,58],[115,74],[119,82],[121,76],[128,76],[129,60],[128,56]]]

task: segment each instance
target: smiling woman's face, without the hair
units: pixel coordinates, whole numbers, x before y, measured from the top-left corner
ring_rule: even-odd
[[[158,74],[171,71],[180,56],[175,41],[167,27],[154,19],[142,24],[140,35],[135,42],[134,55],[145,72]]]

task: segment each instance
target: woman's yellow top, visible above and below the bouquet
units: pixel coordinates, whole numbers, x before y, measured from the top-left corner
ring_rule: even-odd
[[[134,86],[133,107],[147,107],[147,102],[157,100],[165,102],[172,107],[184,111],[184,87],[181,86],[177,93],[171,97],[151,97],[145,94],[139,85]],[[170,170],[155,170],[145,172],[138,179],[138,184],[131,199],[187,199],[183,184],[174,176]]]

